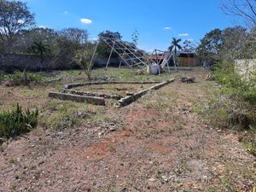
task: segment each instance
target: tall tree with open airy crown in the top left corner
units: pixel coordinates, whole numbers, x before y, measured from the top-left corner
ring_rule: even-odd
[[[26,3],[0,0],[0,41],[4,52],[10,53],[16,35],[34,23],[34,15],[28,10]]]

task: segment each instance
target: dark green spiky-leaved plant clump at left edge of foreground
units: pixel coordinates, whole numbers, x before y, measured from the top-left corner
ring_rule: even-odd
[[[15,110],[0,113],[0,137],[17,137],[38,125],[38,109],[25,111],[17,104]]]

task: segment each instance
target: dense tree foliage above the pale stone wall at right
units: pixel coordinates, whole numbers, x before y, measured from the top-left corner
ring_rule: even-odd
[[[234,26],[207,32],[196,49],[198,59],[201,62],[207,61],[210,66],[218,61],[252,59],[256,51],[255,30]]]

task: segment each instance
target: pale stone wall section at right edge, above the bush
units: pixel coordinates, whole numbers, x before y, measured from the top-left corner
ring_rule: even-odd
[[[253,73],[256,73],[256,59],[236,60],[235,71],[245,79],[252,78]]]

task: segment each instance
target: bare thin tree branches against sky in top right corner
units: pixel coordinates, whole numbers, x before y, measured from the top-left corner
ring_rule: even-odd
[[[256,26],[255,0],[222,0],[221,8],[226,15],[235,15],[246,20],[252,27]]]

